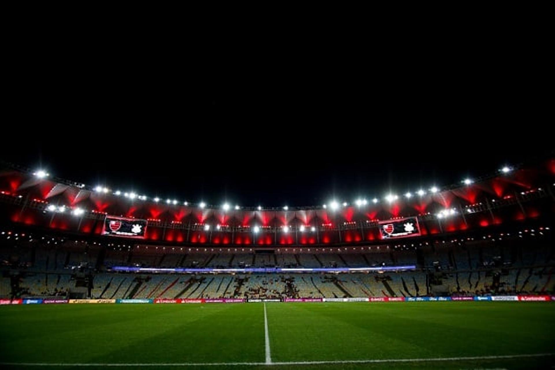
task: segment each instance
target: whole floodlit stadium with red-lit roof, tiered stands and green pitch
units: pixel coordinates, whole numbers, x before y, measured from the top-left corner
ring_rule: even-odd
[[[3,367],[543,368],[555,159],[319,206],[3,163]]]

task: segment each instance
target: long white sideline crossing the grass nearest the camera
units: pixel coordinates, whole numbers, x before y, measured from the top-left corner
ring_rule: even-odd
[[[470,356],[470,357],[432,357],[432,358],[386,358],[386,359],[353,359],[338,361],[291,361],[291,362],[214,362],[214,363],[40,363],[40,362],[0,362],[2,366],[112,366],[112,367],[155,367],[155,366],[280,366],[280,365],[326,365],[343,363],[388,363],[388,362],[440,362],[440,361],[472,361],[481,359],[508,359],[527,357],[555,356],[555,353],[506,354],[501,356]]]

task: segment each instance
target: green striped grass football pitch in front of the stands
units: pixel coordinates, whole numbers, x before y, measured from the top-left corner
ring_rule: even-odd
[[[552,368],[551,302],[0,307],[2,368]]]

